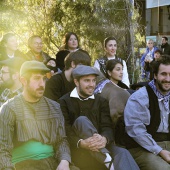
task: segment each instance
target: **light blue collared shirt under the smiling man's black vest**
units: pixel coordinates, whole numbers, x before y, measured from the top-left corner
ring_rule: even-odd
[[[166,111],[163,101],[158,101],[158,103],[160,107],[161,123],[157,132],[167,133],[169,132],[168,112]],[[150,111],[146,87],[140,88],[130,96],[125,107],[124,119],[128,135],[140,146],[154,154],[158,154],[162,150],[152,136],[147,133],[146,126],[150,124]]]

